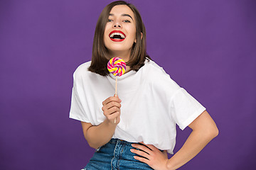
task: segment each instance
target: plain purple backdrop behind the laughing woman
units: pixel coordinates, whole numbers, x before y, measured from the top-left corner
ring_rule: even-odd
[[[181,169],[254,169],[256,1],[130,1],[147,51],[220,134]],[[110,1],[0,1],[0,169],[81,169],[94,149],[68,118],[73,72],[91,58]],[[191,130],[178,129],[175,152]]]

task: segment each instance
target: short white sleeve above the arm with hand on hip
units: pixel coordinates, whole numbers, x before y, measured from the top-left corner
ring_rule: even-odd
[[[178,89],[171,98],[171,116],[181,130],[184,130],[205,110],[206,108],[183,88]]]

